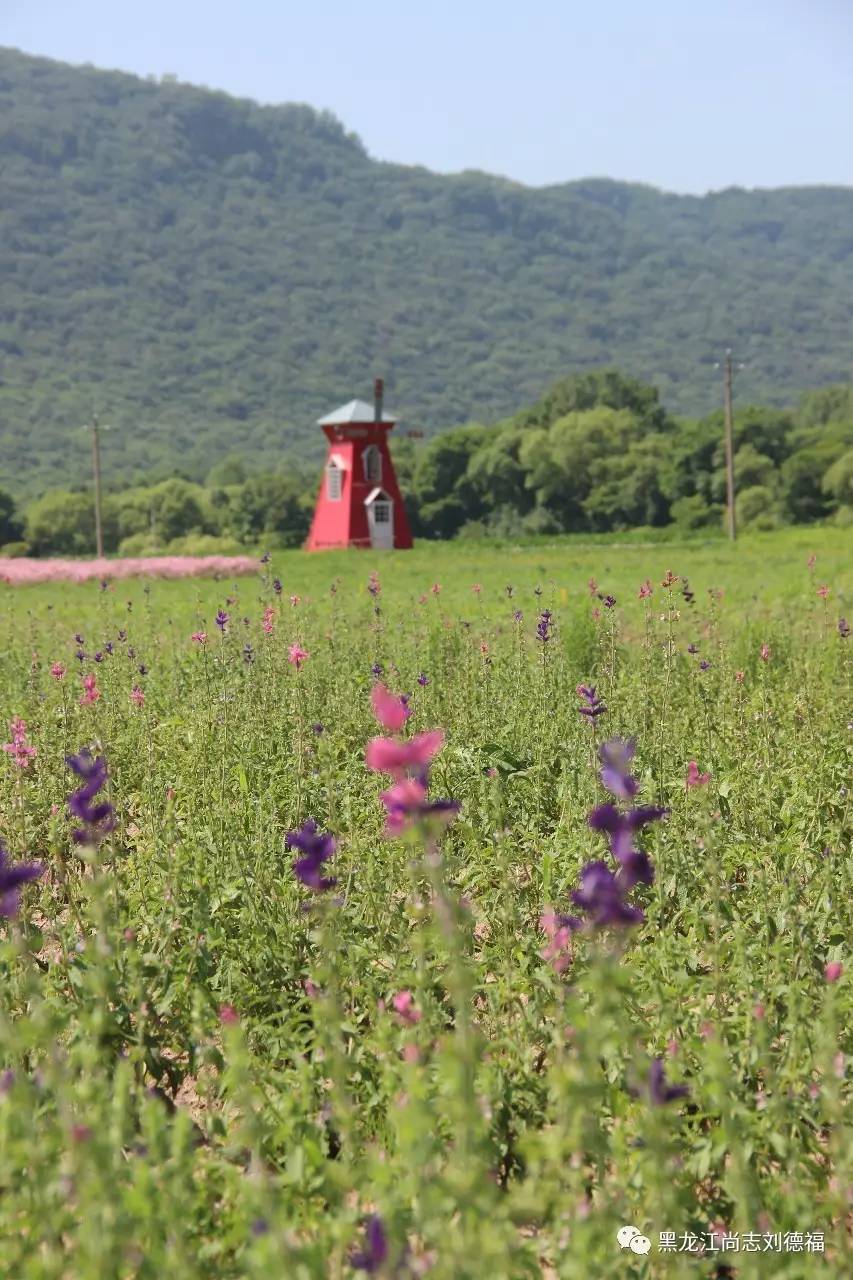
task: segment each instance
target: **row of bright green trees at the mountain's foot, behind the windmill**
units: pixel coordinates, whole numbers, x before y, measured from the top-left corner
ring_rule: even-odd
[[[722,527],[722,412],[674,417],[656,388],[617,370],[565,378],[503,421],[425,444],[392,436],[392,445],[420,538]],[[742,408],[734,449],[742,529],[853,522],[853,385],[808,392],[789,410]],[[128,556],[298,547],[318,483],[314,468],[252,472],[231,454],[202,484],[175,474],[108,492],[105,547]],[[88,489],[53,489],[23,511],[0,493],[6,554],[88,554],[92,530]]]

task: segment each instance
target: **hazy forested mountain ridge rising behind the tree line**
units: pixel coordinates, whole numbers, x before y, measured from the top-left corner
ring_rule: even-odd
[[[307,106],[0,50],[0,484],[82,477],[93,407],[108,476],[202,475],[314,456],[374,372],[426,433],[613,364],[703,413],[726,344],[742,402],[849,380],[853,189],[442,177]]]

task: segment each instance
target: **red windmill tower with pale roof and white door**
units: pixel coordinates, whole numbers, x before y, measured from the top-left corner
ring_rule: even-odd
[[[377,378],[373,408],[365,401],[350,401],[318,422],[329,452],[305,544],[309,552],[411,547],[406,508],[388,452],[388,431],[397,420],[383,413],[382,398],[382,378]]]

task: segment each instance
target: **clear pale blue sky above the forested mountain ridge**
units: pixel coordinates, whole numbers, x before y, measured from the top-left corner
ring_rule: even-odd
[[[0,44],[532,186],[853,186],[853,0],[0,0]]]

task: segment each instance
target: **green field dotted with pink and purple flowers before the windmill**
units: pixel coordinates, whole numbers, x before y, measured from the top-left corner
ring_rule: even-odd
[[[843,539],[0,584],[0,1275],[849,1275]]]

